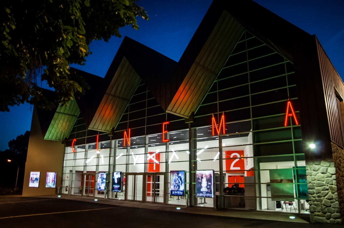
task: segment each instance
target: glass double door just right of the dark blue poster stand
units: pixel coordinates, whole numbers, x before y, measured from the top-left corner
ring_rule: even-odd
[[[142,201],[143,173],[126,174],[126,200]]]

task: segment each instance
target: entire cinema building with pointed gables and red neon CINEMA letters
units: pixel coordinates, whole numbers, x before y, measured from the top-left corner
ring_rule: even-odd
[[[23,196],[55,194],[55,172],[60,194],[341,222],[344,84],[315,35],[253,1],[215,0],[179,62],[126,37],[104,78],[74,70],[84,96],[34,107]],[[175,170],[184,196],[170,195]]]

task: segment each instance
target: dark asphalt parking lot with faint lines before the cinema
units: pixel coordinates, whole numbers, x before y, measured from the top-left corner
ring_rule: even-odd
[[[0,227],[343,227],[233,218],[101,204],[63,198],[0,197]]]

